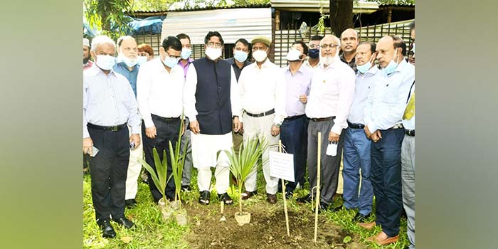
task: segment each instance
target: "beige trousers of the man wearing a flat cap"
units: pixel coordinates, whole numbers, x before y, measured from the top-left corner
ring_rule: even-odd
[[[276,194],[278,191],[278,178],[270,176],[270,161],[268,160],[270,151],[278,152],[278,140],[280,139],[280,134],[275,137],[271,134],[274,117],[275,114],[267,115],[265,117],[250,117],[245,113],[243,115],[244,142],[248,139],[253,139],[254,137],[258,137],[260,142],[264,137],[266,142],[268,142],[268,147],[263,152],[263,160],[266,160],[265,164],[263,164],[263,176],[265,176],[267,194]],[[258,165],[256,164],[255,166]],[[258,179],[257,174],[258,171],[255,171],[248,176],[248,179],[245,181],[246,191],[252,192],[258,188],[256,186],[256,181]]]

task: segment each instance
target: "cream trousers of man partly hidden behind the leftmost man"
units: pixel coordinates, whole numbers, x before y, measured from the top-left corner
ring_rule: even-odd
[[[140,130],[142,130],[142,124],[140,124]],[[129,136],[132,135],[132,128],[128,126]],[[129,149],[129,164],[126,176],[126,194],[124,196],[125,200],[134,199],[137,196],[138,189],[138,176],[140,171],[142,171],[142,164],[138,162],[139,158],[144,158],[144,149],[142,145],[142,132],[140,136],[140,146],[134,149]]]

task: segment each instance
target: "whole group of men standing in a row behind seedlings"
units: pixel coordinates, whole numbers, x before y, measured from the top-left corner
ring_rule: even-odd
[[[413,39],[414,33],[413,26]],[[310,194],[297,201],[311,201],[320,160],[317,208],[329,209],[344,148],[344,208],[358,208],[354,219],[359,226],[381,225],[382,232],[370,239],[383,245],[398,240],[404,203],[410,248],[415,248],[415,75],[414,66],[404,58],[406,43],[398,36],[384,36],[377,44],[360,43],[354,29],[340,38],[313,36],[308,44],[292,44],[285,68],[269,60],[270,46],[265,36],[250,43],[240,38],[233,58],[223,60],[223,38],[210,31],[204,39],[206,56],[192,60],[190,38],[182,33],[164,38],[159,57],[140,63],[136,42],[124,36],[117,41],[115,64],[115,43],[107,36],[93,39],[95,63],[84,73],[83,152],[99,150],[90,158],[90,174],[97,223],[105,237],[115,236],[110,216],[133,226],[124,217],[124,206],[135,203],[140,172],[136,158],[142,157],[142,141],[145,161],[155,169],[152,149],[169,154],[168,142],[175,146],[180,132],[182,147],[191,145],[182,188],[190,189],[193,165],[198,170],[198,202],[203,205],[211,198],[212,167],[218,198],[233,204],[227,194],[229,161],[223,150],[234,147],[237,152],[248,139],[264,139],[270,145],[281,139],[286,152],[294,154],[295,165],[295,181],[287,182],[286,196],[304,185],[307,166]],[[248,60],[250,52],[254,63]],[[182,113],[186,131],[179,130]],[[319,132],[322,152],[327,147],[334,152],[317,159]],[[264,159],[277,149],[265,149]],[[274,204],[279,179],[270,176],[269,162],[264,161],[266,200]],[[244,200],[257,194],[256,174],[245,182]],[[159,201],[161,194],[152,181],[149,188]],[[170,181],[166,198],[173,198],[174,188]],[[376,221],[367,223],[373,196]]]

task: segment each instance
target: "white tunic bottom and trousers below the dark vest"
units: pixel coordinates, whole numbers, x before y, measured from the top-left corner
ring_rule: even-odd
[[[230,161],[227,151],[233,147],[232,133],[222,135],[206,135],[191,133],[192,160],[197,171],[197,185],[199,191],[211,191],[211,167],[216,167],[216,192],[225,194],[230,184]]]

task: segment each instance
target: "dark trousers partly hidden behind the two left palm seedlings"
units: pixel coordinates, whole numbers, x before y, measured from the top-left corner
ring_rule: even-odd
[[[176,142],[178,141],[178,132],[180,129],[180,119],[164,121],[152,117],[152,122],[154,122],[154,126],[156,127],[157,135],[156,138],[151,139],[147,137],[145,134],[145,124],[142,123],[142,140],[144,142],[144,152],[145,152],[145,161],[149,164],[152,169],[157,174],[156,164],[154,164],[154,153],[152,149],[155,147],[157,149],[157,153],[159,154],[159,159],[163,160],[164,150],[166,150],[166,160],[168,162],[168,169],[166,179],[169,178],[173,174],[173,169],[171,168],[171,158],[169,156],[169,141],[171,141],[171,146],[173,149],[176,146]],[[157,202],[162,198],[161,192],[157,189],[154,181],[152,181],[152,177],[150,173],[147,172],[147,176],[149,176],[149,189],[154,198],[154,201]],[[174,179],[171,176],[171,179],[166,184],[166,189],[164,189],[166,193],[166,198],[174,199],[175,194],[175,185]]]

